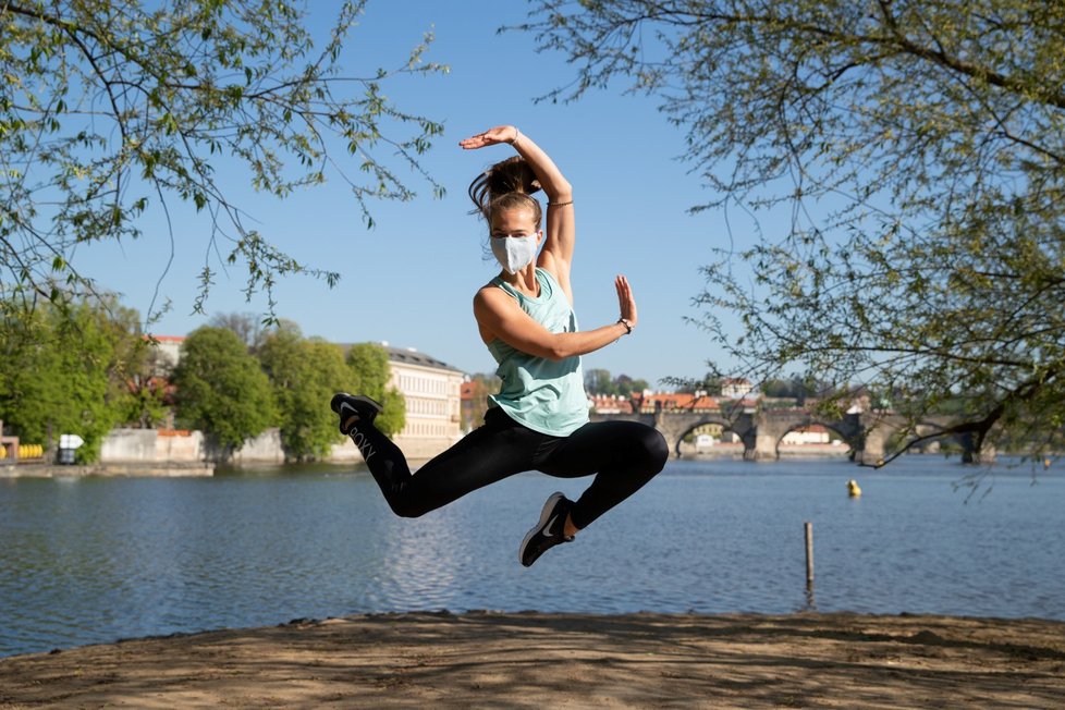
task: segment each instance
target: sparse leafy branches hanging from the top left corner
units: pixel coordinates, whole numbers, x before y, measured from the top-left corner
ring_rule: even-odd
[[[413,197],[399,168],[442,193],[418,164],[441,124],[404,111],[384,87],[446,68],[424,61],[426,35],[395,69],[345,73],[341,50],[365,4],[340,3],[316,48],[296,0],[0,3],[0,289],[52,299],[65,293],[56,282],[91,291],[73,262],[77,245],[140,236],[149,216],[169,227],[172,200],[210,216],[197,309],[216,254],[247,267],[247,293],[266,291],[271,315],[278,278],[335,282],[248,229],[230,186],[284,198],[332,172],[368,225],[369,200]],[[345,149],[357,174],[333,159]],[[245,179],[220,179],[219,157]]]

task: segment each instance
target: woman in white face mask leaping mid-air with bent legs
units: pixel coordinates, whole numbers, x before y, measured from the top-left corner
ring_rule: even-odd
[[[380,404],[340,393],[331,406],[340,415],[341,432],[358,446],[396,515],[417,517],[525,470],[558,478],[595,476],[576,501],[562,493],[548,498],[518,550],[522,564],[529,566],[639,490],[665,465],[669,449],[652,427],[588,421],[580,356],[631,334],[636,301],[625,277],[617,277],[621,317],[595,330],[577,330],[570,285],[572,187],[548,155],[512,125],[458,145],[475,150],[498,144],[511,145],[518,155],[492,166],[469,186],[502,267],[474,296],[480,336],[502,380],[499,394],[489,397],[483,426],[412,475],[400,449],[374,426]],[[547,195],[546,231],[540,203],[530,196],[537,189]]]

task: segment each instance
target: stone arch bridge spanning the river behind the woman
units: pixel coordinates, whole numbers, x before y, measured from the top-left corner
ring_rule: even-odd
[[[855,463],[876,466],[891,453],[889,442],[906,426],[906,419],[890,412],[861,412],[846,414],[841,419],[817,417],[807,409],[755,409],[736,407],[734,411],[690,412],[687,409],[661,409],[653,414],[592,414],[592,421],[625,419],[642,421],[658,429],[674,456],[680,455],[681,441],[697,427],[719,425],[724,431],[735,433],[744,443],[747,461],[775,461],[780,457],[780,442],[789,431],[821,425],[834,431],[849,446]],[[933,434],[950,426],[947,417],[927,417],[917,427],[918,436]],[[954,437],[963,450],[967,463],[993,461],[994,451],[986,448],[977,451],[971,437]]]

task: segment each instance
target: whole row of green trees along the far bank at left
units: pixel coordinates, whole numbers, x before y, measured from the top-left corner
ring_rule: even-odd
[[[388,433],[403,428],[403,395],[388,384],[379,345],[345,353],[304,338],[295,323],[261,330],[250,316],[224,316],[185,339],[168,374],[135,311],[114,299],[70,308],[46,304],[4,323],[0,419],[25,442],[78,433],[85,443],[76,463],[94,462],[114,427],[162,425],[204,431],[223,458],[279,427],[286,458],[310,461],[341,441],[335,416],[322,406],[339,390],[384,402],[378,425]]]

